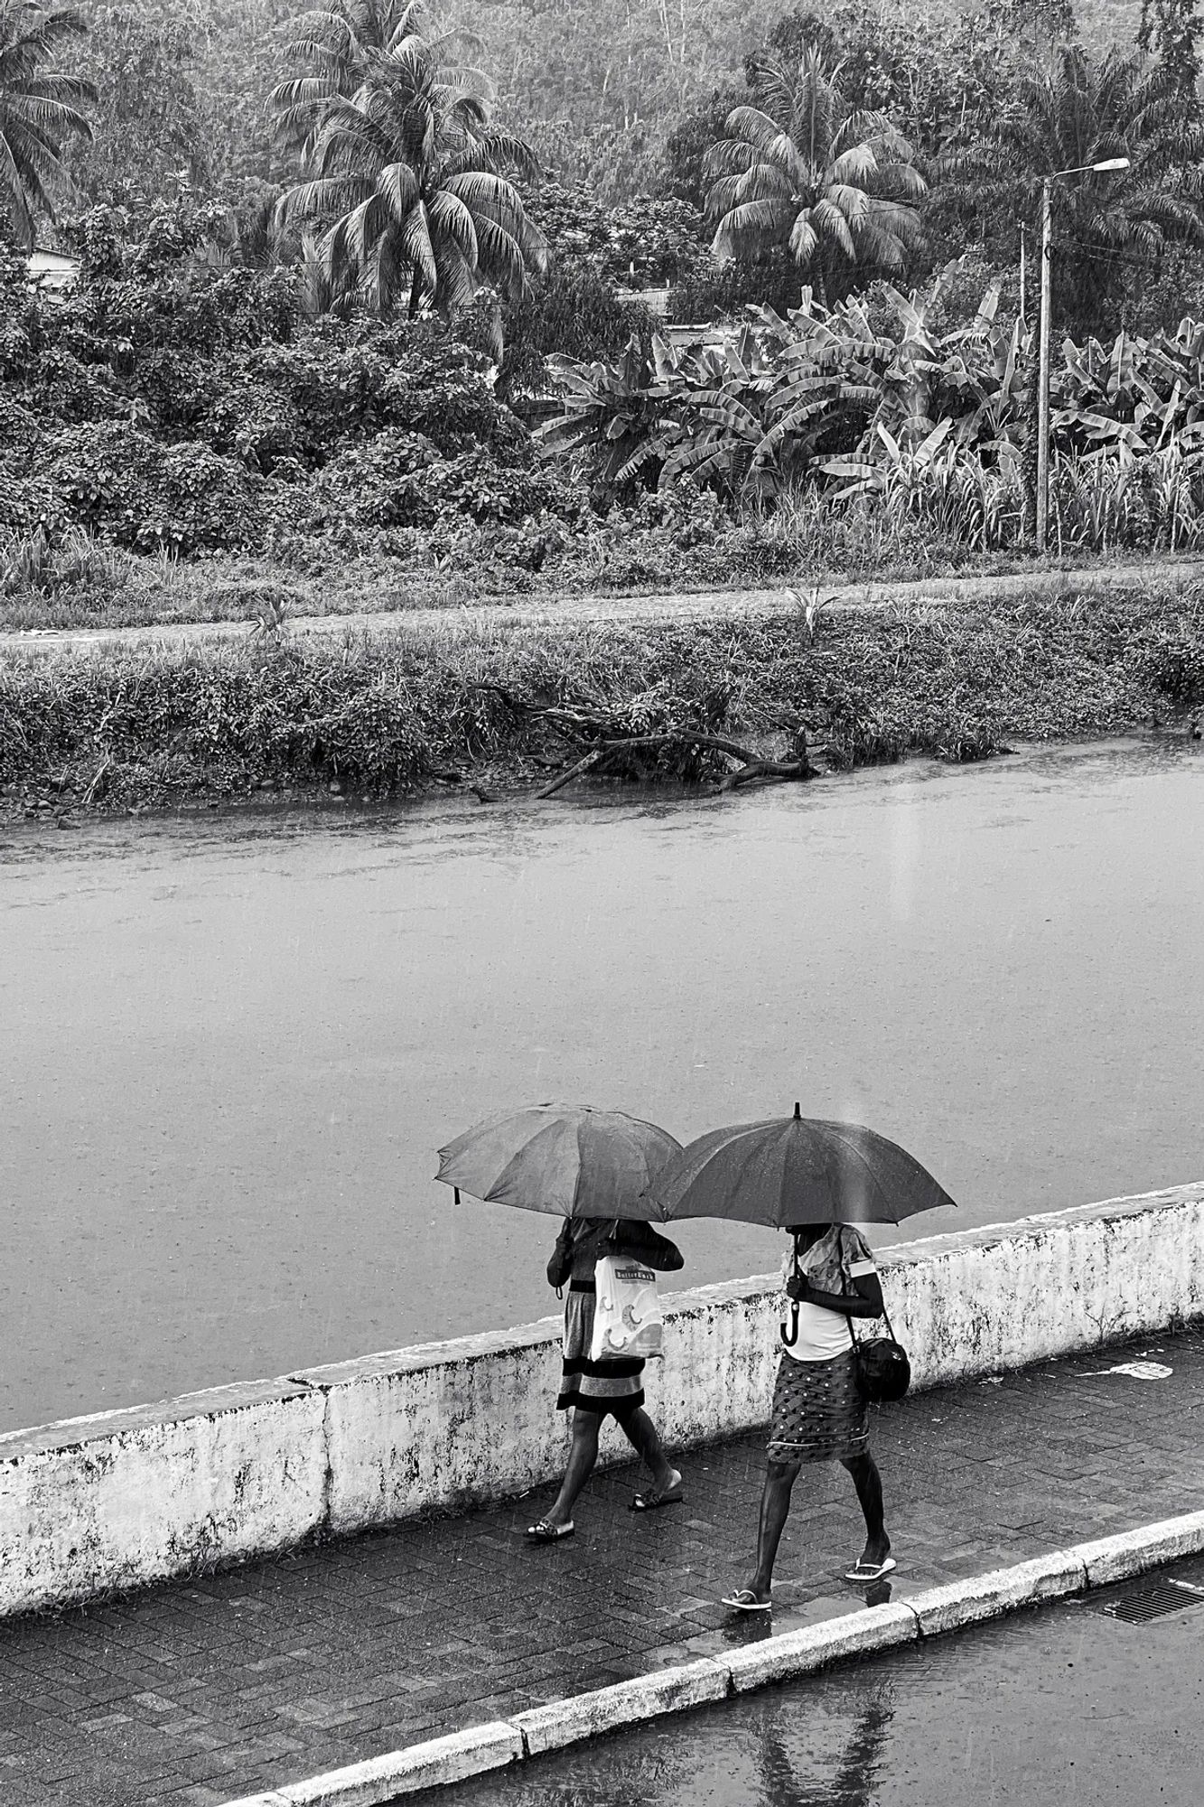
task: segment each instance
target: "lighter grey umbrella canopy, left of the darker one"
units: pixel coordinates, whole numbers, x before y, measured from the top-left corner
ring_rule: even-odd
[[[588,1104],[531,1104],[439,1149],[436,1180],[497,1205],[560,1218],[644,1218],[644,1196],[682,1144],[656,1124]]]

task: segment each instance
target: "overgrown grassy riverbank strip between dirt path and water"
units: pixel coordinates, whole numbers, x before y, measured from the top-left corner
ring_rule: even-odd
[[[1204,703],[1204,587],[1092,589],[705,623],[439,627],[231,645],[36,651],[0,663],[0,806],[172,808],[257,791],[412,795],[548,775],[582,752],[539,712],[618,732],[779,750],[804,728],[837,770],[1009,737],[1186,725]],[[642,764],[635,764],[635,757]],[[714,779],[718,754],[633,755]]]

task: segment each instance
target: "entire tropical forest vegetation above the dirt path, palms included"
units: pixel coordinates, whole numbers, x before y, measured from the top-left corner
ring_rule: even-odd
[[[0,0],[0,582],[1018,551],[1041,177],[1119,155],[1056,184],[1054,531],[1197,546],[1199,36],[1195,0]]]

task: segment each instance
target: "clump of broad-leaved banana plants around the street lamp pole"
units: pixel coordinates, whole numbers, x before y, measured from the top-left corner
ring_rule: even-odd
[[[616,365],[553,360],[564,405],[541,437],[588,452],[611,484],[656,472],[662,488],[689,475],[774,501],[819,481],[837,502],[875,495],[962,538],[1005,544],[1025,513],[1034,334],[1000,320],[994,284],[973,320],[940,329],[956,271],[947,266],[922,296],[880,286],[889,331],[857,298],[824,307],[803,291],[786,314],[748,309],[718,343],[656,338],[651,358],[633,343]],[[1193,544],[1204,510],[1204,323],[1182,320],[1153,338],[1119,332],[1106,347],[1067,342],[1050,401],[1063,537]]]

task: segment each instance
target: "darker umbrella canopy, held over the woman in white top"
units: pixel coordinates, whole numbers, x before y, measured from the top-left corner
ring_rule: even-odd
[[[898,1223],[953,1200],[897,1142],[862,1124],[776,1117],[710,1129],[651,1187],[667,1222]]]

